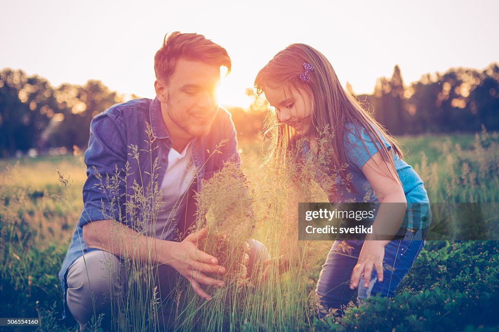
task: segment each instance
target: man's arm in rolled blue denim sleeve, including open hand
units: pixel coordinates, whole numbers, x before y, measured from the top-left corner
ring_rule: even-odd
[[[116,170],[121,172],[125,168],[126,130],[119,112],[100,114],[90,125],[90,139],[85,152],[87,180],[83,186],[84,205],[78,222],[83,229],[83,240],[89,247],[119,257],[128,255],[133,261],[168,264],[191,282],[198,295],[209,299],[200,284],[223,285],[223,282],[209,278],[203,272],[225,273],[225,269],[218,265],[215,257],[197,248],[198,241],[206,237],[206,230],[191,234],[181,243],[139,234],[122,223],[126,219],[122,214],[124,209],[116,204],[126,199],[121,176],[117,180],[117,188],[113,188],[118,197],[110,197],[109,190],[103,187],[102,181],[107,181],[107,175],[112,177]],[[113,198],[114,205],[111,203]]]

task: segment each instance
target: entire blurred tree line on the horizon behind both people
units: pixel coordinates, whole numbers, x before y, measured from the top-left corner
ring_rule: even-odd
[[[377,80],[372,95],[354,95],[392,135],[499,130],[499,67],[482,71],[453,68],[427,74],[406,86],[400,68]],[[252,94],[247,89],[247,94]],[[133,96],[133,98],[137,98]],[[90,121],[123,96],[101,81],[52,87],[43,77],[22,70],[0,71],[0,158],[51,147],[85,150]],[[261,133],[268,105],[255,98],[249,109],[232,108],[241,138]]]

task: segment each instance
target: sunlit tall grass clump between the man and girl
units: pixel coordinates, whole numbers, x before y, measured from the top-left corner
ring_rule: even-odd
[[[305,171],[302,176],[305,173],[311,176]],[[176,317],[179,331],[309,329],[312,321],[309,295],[314,284],[307,273],[317,243],[303,245],[293,257],[295,266],[282,278],[278,260],[269,267],[264,282],[258,272],[241,282],[246,269],[238,271],[242,263],[237,254],[241,251],[241,241],[252,235],[272,256],[279,256],[281,250],[289,250],[287,244],[297,242],[297,202],[319,199],[314,195],[320,189],[313,185],[296,191],[296,187],[289,185],[289,177],[296,174],[296,171],[269,168],[260,173],[261,178],[247,179],[237,165],[229,163],[203,184],[198,196],[201,212],[198,228],[208,228],[214,237],[201,248],[221,258],[227,270],[237,271],[237,276],[234,278],[229,273],[226,288],[209,288],[213,299],[203,304],[185,282],[184,286],[178,285],[180,295],[176,305],[184,308]],[[257,187],[252,181],[258,181]]]

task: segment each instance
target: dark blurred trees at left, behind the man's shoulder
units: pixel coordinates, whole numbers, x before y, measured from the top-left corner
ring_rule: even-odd
[[[0,71],[0,157],[50,147],[86,148],[90,121],[123,100],[102,82],[53,88],[22,70]]]

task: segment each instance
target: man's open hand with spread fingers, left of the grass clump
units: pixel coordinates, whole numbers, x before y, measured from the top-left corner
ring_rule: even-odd
[[[216,257],[198,249],[198,242],[206,238],[207,235],[208,231],[206,228],[203,228],[189,234],[182,242],[172,242],[172,250],[169,250],[170,252],[165,254],[169,258],[165,264],[170,265],[189,280],[196,294],[206,300],[211,300],[211,296],[203,290],[201,284],[225,287],[225,283],[221,280],[210,278],[204,273],[224,274],[226,270],[223,266],[218,265]]]

